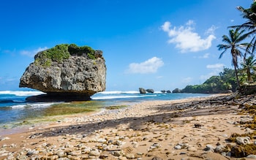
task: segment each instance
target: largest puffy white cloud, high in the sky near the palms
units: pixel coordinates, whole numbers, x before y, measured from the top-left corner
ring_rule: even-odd
[[[207,50],[211,47],[212,40],[216,39],[214,36],[214,31],[217,27],[211,26],[206,31],[206,34],[209,34],[206,39],[202,39],[199,34],[197,34],[194,30],[195,23],[193,20],[189,20],[185,26],[171,27],[169,21],[166,21],[161,27],[162,30],[167,32],[168,43],[176,44],[176,47],[181,50],[181,53],[186,52],[197,52],[200,50]]]

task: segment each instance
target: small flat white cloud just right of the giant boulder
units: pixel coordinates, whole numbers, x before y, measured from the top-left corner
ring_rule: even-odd
[[[161,58],[153,57],[148,59],[147,61],[143,61],[140,64],[132,63],[129,64],[128,73],[155,73],[157,70],[164,65],[164,62]]]

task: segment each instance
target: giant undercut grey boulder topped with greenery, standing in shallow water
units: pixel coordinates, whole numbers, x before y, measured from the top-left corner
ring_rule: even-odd
[[[105,78],[101,50],[64,44],[37,53],[19,86],[46,93],[30,97],[31,101],[89,100],[93,94],[105,91]]]

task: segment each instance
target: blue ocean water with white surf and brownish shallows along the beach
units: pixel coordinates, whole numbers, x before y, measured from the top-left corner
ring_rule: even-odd
[[[26,97],[44,94],[41,91],[0,91],[0,128],[13,128],[29,121],[53,115],[67,115],[102,110],[110,106],[129,106],[151,100],[186,99],[211,94],[140,94],[138,91],[103,91],[89,102],[26,102]],[[96,110],[95,110],[96,109]]]

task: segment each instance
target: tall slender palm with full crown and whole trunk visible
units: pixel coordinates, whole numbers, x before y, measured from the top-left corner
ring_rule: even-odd
[[[238,85],[238,90],[240,91],[241,86],[238,80],[238,57],[243,56],[241,50],[246,50],[246,47],[249,45],[248,43],[240,43],[246,38],[246,34],[244,34],[245,30],[240,31],[239,28],[236,28],[234,31],[233,29],[229,30],[229,35],[222,36],[222,42],[225,42],[223,45],[217,45],[219,50],[224,50],[220,55],[219,58],[222,58],[223,54],[230,50],[232,56],[232,64],[235,67],[236,73],[236,83]]]

